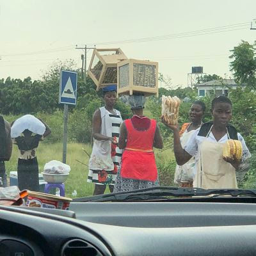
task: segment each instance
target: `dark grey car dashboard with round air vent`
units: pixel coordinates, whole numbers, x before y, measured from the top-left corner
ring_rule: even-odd
[[[86,202],[0,207],[0,255],[256,255],[256,205]]]

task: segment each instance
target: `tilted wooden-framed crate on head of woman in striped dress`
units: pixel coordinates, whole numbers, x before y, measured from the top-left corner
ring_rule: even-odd
[[[102,52],[109,52],[109,54],[102,54]],[[111,52],[115,52],[115,54],[110,54]],[[96,84],[97,91],[109,84],[117,84],[117,63],[122,60],[127,60],[127,57],[120,48],[93,50],[88,68],[88,76]],[[96,66],[98,69],[95,69]],[[112,76],[111,81],[109,76]]]

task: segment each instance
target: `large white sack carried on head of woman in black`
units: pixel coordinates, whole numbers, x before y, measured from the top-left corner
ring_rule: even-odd
[[[11,137],[17,138],[28,129],[31,132],[34,132],[39,135],[43,135],[45,132],[45,125],[33,115],[24,115],[18,118],[12,125]]]

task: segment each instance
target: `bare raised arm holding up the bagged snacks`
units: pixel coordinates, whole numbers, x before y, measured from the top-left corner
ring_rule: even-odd
[[[163,118],[162,118],[162,122],[173,131],[173,150],[174,150],[174,155],[175,155],[177,164],[179,165],[186,164],[189,161],[189,159],[191,159],[192,156],[188,154],[188,152],[186,152],[186,150],[184,150],[181,146],[180,135],[179,135],[179,124],[177,125],[167,124],[166,122],[164,122]]]

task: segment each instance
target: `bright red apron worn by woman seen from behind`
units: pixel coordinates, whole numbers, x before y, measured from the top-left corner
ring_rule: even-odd
[[[122,155],[121,177],[155,182],[157,168],[153,142],[156,120],[150,120],[150,127],[146,131],[134,129],[131,119],[124,122],[127,129],[127,145]]]

